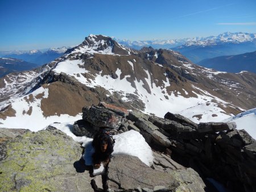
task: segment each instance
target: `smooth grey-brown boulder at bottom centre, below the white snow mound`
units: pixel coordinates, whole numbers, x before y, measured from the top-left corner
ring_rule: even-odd
[[[157,169],[152,169],[137,157],[123,155],[112,157],[108,169],[109,189],[204,191],[205,184],[195,170],[184,168],[167,156],[158,155],[156,158],[156,162],[162,162],[162,164],[158,165]],[[163,162],[163,159],[166,161]]]

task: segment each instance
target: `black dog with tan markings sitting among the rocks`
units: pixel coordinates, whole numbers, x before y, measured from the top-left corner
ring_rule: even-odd
[[[104,166],[108,165],[111,153],[114,148],[114,139],[108,131],[101,130],[93,138],[92,145],[95,152],[92,155],[94,168],[100,168],[101,162]]]

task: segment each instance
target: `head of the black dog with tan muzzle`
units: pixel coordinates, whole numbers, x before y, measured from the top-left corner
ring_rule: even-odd
[[[114,147],[114,140],[106,131],[98,132],[93,138],[93,147],[98,152],[112,153]]]

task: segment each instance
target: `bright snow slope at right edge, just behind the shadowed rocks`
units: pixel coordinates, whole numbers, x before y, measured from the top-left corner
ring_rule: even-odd
[[[250,136],[256,139],[256,108],[241,112],[223,122],[236,122],[238,130],[246,130]]]

